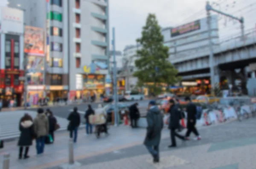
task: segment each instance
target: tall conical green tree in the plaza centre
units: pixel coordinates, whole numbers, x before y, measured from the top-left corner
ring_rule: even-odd
[[[168,60],[169,48],[163,44],[161,27],[154,14],[148,14],[141,34],[137,43],[142,48],[137,50],[135,65],[138,70],[134,72],[134,76],[138,77],[140,83],[151,83],[147,87],[154,95],[158,95],[162,92],[162,83],[173,85],[180,77],[177,77],[177,69]]]

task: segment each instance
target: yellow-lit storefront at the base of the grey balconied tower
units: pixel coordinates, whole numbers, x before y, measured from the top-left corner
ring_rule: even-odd
[[[105,93],[105,75],[103,74],[84,74],[83,75],[83,97],[95,94],[97,98]]]

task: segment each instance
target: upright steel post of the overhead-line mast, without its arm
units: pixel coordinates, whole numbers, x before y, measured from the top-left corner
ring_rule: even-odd
[[[209,67],[210,67],[210,78],[211,78],[211,94],[214,95],[214,60],[213,60],[213,48],[212,48],[212,38],[211,38],[211,15],[210,10],[207,8],[209,6],[209,1],[206,2],[206,10],[207,10],[207,26],[208,26],[208,39],[209,39]]]

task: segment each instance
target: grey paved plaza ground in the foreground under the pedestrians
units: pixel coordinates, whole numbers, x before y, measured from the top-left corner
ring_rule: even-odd
[[[178,147],[169,149],[169,130],[164,129],[160,144],[161,162],[152,163],[142,145],[145,129],[129,126],[111,127],[111,135],[96,139],[79,131],[74,145],[77,169],[256,169],[256,118],[201,127],[200,141],[177,140]],[[185,131],[184,131],[185,132]],[[184,133],[183,132],[183,133]],[[191,135],[193,137],[193,135]],[[5,144],[0,153],[11,153],[10,169],[61,169],[68,161],[68,133],[56,135],[53,145],[47,145],[44,155],[37,156],[35,143],[27,160],[17,160],[17,141]],[[0,156],[0,166],[3,156]]]

